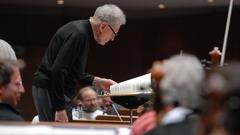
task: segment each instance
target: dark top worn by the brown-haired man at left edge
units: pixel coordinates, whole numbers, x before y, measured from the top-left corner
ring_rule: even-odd
[[[24,121],[20,113],[9,104],[0,103],[0,120]]]

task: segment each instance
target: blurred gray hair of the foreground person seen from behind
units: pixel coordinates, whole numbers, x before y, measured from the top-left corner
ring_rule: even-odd
[[[165,75],[160,82],[163,103],[178,102],[195,108],[200,102],[204,70],[193,55],[175,55],[163,64]]]

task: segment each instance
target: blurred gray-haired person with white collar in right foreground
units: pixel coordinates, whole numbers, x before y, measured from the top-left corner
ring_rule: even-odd
[[[159,89],[154,89],[158,125],[146,135],[194,135],[194,109],[201,102],[203,67],[195,56],[183,54],[166,60],[162,68]]]

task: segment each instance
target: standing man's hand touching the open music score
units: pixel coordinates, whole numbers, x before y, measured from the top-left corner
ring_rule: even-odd
[[[96,86],[102,90],[109,90],[110,86],[116,84],[115,81],[106,78],[94,77],[93,86]]]

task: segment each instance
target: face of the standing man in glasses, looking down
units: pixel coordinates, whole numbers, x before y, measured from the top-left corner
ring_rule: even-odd
[[[120,25],[111,26],[105,22],[102,22],[99,25],[99,29],[100,29],[100,34],[98,38],[99,39],[98,43],[104,46],[109,41],[114,40],[114,38],[117,36],[117,33],[120,29]]]

